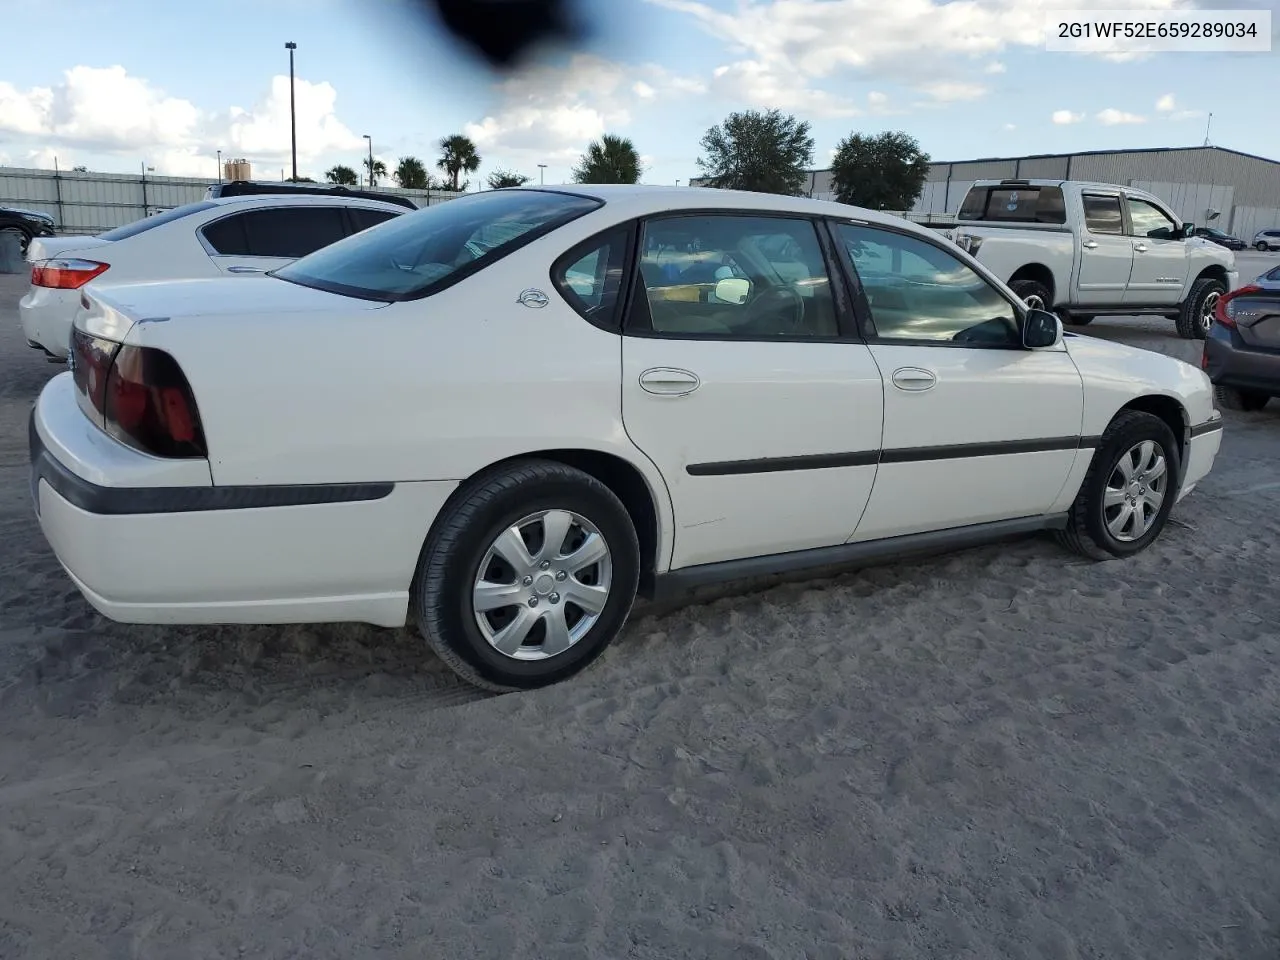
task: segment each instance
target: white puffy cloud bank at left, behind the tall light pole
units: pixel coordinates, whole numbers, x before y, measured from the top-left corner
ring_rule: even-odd
[[[294,92],[300,168],[362,146],[338,119],[332,84],[298,78]],[[19,90],[0,82],[0,133],[29,143],[29,159],[41,166],[51,165],[54,154],[65,165],[68,150],[77,150],[146,161],[157,174],[212,177],[221,150],[225,157],[274,168],[289,156],[289,79],[273,77],[252,108],[212,111],[124,67],[79,65],[54,87]]]

